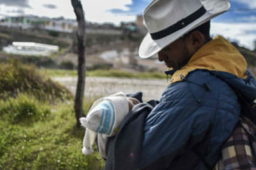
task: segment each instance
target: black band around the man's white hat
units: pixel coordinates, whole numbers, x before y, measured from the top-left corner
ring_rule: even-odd
[[[150,33],[152,39],[162,39],[165,36],[168,36],[178,30],[181,30],[182,28],[185,28],[187,25],[195,21],[196,19],[199,19],[199,17],[203,16],[205,14],[206,10],[202,6],[199,8],[199,10],[196,10],[196,12],[190,14],[188,17],[185,17],[184,19],[181,19],[181,21],[178,21],[174,23],[174,25],[170,25],[170,27],[165,28],[164,30]]]

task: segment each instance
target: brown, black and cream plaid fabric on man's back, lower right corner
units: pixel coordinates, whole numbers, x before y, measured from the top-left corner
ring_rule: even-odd
[[[222,159],[214,170],[256,170],[256,126],[248,118],[241,117],[230,138],[222,146]]]

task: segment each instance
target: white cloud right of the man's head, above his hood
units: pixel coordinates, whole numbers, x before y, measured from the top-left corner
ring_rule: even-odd
[[[230,40],[239,41],[239,45],[254,49],[256,23],[211,23],[211,34],[220,34]]]

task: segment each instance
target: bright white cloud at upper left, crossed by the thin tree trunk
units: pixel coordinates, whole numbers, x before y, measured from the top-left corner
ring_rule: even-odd
[[[127,5],[131,3],[132,0],[82,0],[85,19],[87,21],[98,23],[111,22],[119,24],[120,21],[135,21],[135,16],[113,14],[110,12],[111,9],[129,10]],[[51,4],[51,6],[56,6],[56,8],[45,8],[45,4]],[[24,10],[24,14],[34,14],[40,17],[64,17],[75,19],[71,0],[28,0],[28,5],[31,8],[0,5],[0,15],[7,14],[8,16],[17,16],[20,14],[17,11],[22,9]]]

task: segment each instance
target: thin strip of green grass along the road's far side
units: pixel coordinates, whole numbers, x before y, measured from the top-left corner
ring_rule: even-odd
[[[42,69],[42,74],[47,76],[77,76],[77,70],[51,70]],[[116,78],[166,78],[161,72],[125,72],[120,70],[94,70],[86,71],[86,76],[102,76]]]

